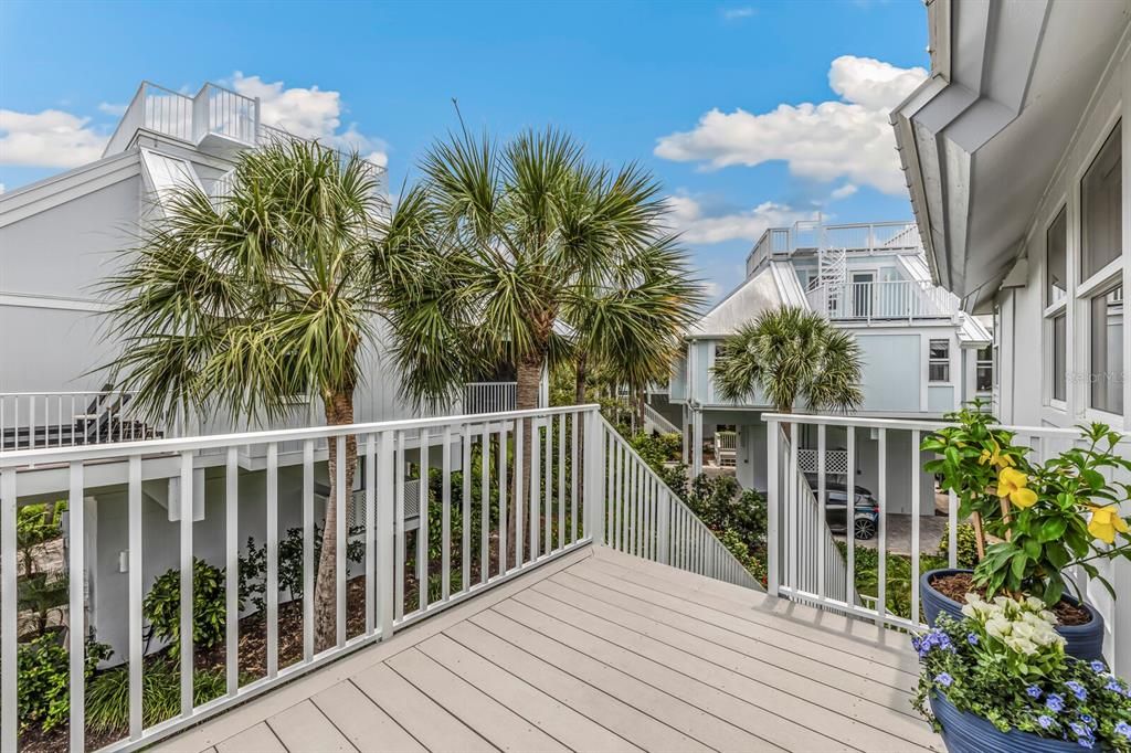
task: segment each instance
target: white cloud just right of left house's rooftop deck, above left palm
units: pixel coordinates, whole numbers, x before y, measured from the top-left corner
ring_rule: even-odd
[[[295,136],[319,139],[338,149],[356,149],[370,162],[386,166],[388,147],[379,138],[365,136],[349,123],[342,130],[342,94],[310,88],[286,88],[283,81],[265,81],[259,76],[236,71],[232,88],[244,96],[259,97],[259,114],[268,126],[282,128]]]

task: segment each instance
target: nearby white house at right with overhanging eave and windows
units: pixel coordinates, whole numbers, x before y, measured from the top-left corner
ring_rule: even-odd
[[[933,278],[964,310],[993,314],[999,415],[1129,430],[1131,3],[935,0],[927,11],[931,77],[891,121]],[[1126,674],[1131,568],[1106,566],[1122,598],[1094,585],[1088,597]]]

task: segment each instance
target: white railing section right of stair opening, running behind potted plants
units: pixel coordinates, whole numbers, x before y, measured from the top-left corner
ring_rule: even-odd
[[[769,456],[767,588],[770,594],[874,621],[880,625],[912,630],[923,629],[925,625],[922,624],[920,612],[921,553],[925,547],[933,549],[935,542],[921,540],[921,516],[917,513],[923,510],[924,500],[931,502],[925,507],[933,513],[934,490],[927,487],[921,478],[922,475],[917,473],[923,460],[918,447],[924,436],[943,424],[930,421],[804,414],[765,414],[762,418],[768,424],[769,436],[767,448]],[[788,440],[789,436],[798,436],[798,432],[804,426],[814,427],[817,433],[817,490],[812,490],[804,479],[798,450]],[[785,427],[788,427],[788,434],[783,431]],[[1030,448],[1029,457],[1035,461],[1043,462],[1080,443],[1078,430],[1043,426],[1007,426],[1005,429],[1016,432],[1015,443]],[[829,557],[840,556],[839,549],[830,549],[824,543],[829,534],[824,509],[828,499],[824,479],[829,470],[821,466],[823,465],[822,459],[828,457],[826,447],[827,434],[830,430],[845,434],[848,478],[856,478],[857,471],[862,470],[861,458],[874,458],[867,468],[869,471],[874,470],[875,473],[875,497],[879,505],[875,537],[878,548],[877,594],[874,603],[867,600],[871,606],[864,604],[865,599],[857,598],[857,603],[852,603],[846,600],[844,596],[846,590],[855,592],[853,590],[857,582],[855,545],[846,546],[843,570],[835,573],[827,566]],[[906,442],[906,462],[910,475],[909,488],[893,488],[889,484],[889,465],[892,461],[900,462],[889,453],[889,441],[893,441],[892,438],[897,433],[900,435],[900,441]],[[874,451],[858,452],[857,443],[862,441],[874,441]],[[1125,448],[1125,452],[1131,455],[1131,433],[1123,433],[1123,443],[1120,447]],[[810,499],[814,494],[815,505]],[[888,582],[887,573],[887,554],[890,544],[888,516],[893,500],[908,501],[908,509],[912,511],[909,516],[910,535],[906,548],[909,552],[910,578],[909,582],[899,585],[900,588],[906,588],[899,596],[907,597],[909,616],[892,614],[888,611],[888,589],[893,586],[893,583]],[[845,514],[851,516],[852,511],[846,510]],[[947,549],[951,568],[957,566],[958,525],[958,500],[951,493],[947,512]],[[852,530],[851,526],[848,530]],[[848,543],[852,544],[852,542],[853,539],[848,537]],[[815,562],[813,562],[814,555]],[[843,583],[839,582],[841,577]],[[1114,605],[1103,588],[1091,588],[1091,586],[1087,585],[1083,588],[1093,606],[1099,609],[1105,620],[1108,621],[1108,626],[1112,628],[1108,639],[1114,640],[1120,633],[1119,626],[1114,624],[1116,616]],[[1125,630],[1131,630],[1131,626],[1126,626]],[[1112,650],[1111,642],[1106,650]]]

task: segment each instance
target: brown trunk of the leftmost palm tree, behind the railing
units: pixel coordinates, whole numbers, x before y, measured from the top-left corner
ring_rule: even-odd
[[[347,388],[323,398],[326,423],[343,426],[353,423],[353,388]],[[330,494],[326,499],[326,517],[322,520],[322,552],[318,559],[318,578],[314,583],[314,648],[328,649],[337,642],[337,468],[338,458],[335,442],[329,447]],[[346,438],[345,448],[346,494],[353,490],[354,471],[357,468],[357,438]],[[348,504],[348,500],[346,502]],[[345,578],[345,573],[340,573]]]

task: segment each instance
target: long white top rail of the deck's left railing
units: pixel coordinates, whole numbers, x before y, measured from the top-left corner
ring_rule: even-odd
[[[400,421],[374,422],[369,424],[344,424],[340,426],[304,426],[302,429],[279,429],[235,434],[211,434],[184,439],[158,439],[141,442],[115,442],[113,444],[78,445],[38,450],[15,450],[0,455],[0,468],[42,465],[49,462],[78,462],[84,460],[113,459],[129,455],[162,455],[207,450],[242,444],[269,444],[308,439],[348,436],[351,434],[378,434],[387,431],[430,429],[451,424],[483,424],[498,421],[538,418],[570,413],[590,413],[599,405],[570,405],[527,410],[503,410],[500,413],[464,414],[458,416],[434,416],[430,418],[405,418]]]

